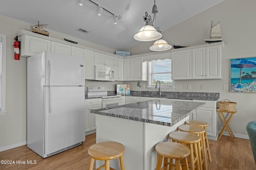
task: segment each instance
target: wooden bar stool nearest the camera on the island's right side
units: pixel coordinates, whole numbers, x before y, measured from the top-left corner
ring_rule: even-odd
[[[172,169],[172,166],[176,167],[176,170],[182,170],[182,166],[184,170],[188,170],[187,157],[190,155],[188,147],[180,143],[162,142],[158,143],[155,149],[158,153],[156,170],[170,170]],[[161,168],[163,157],[164,165]],[[175,164],[173,162],[168,162],[169,158],[170,160],[175,159]],[[180,164],[180,160],[182,164]]]

